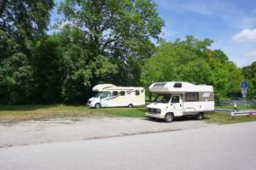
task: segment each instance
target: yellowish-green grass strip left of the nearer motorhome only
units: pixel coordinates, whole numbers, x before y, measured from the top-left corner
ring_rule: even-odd
[[[103,108],[96,110],[84,105],[0,105],[0,122],[73,116],[143,117],[144,110],[144,108]]]

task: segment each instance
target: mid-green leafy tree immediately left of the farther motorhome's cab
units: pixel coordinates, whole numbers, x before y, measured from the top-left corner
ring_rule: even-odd
[[[55,84],[55,88],[52,89],[53,91],[57,89],[55,93],[61,90],[61,101],[84,103],[91,96],[92,85],[100,83],[101,80],[108,81],[109,77],[117,70],[117,66],[111,59],[101,54],[92,58],[90,42],[84,35],[84,31],[78,27],[65,26],[61,32],[49,37],[49,42],[52,52],[49,53],[50,55],[47,54],[49,59],[45,60],[44,58],[43,60],[49,62],[50,68],[46,67],[46,69],[54,73],[51,76],[55,77],[55,80],[49,80],[49,82]],[[44,49],[39,50],[41,51],[38,54],[39,58],[42,57]],[[39,65],[41,64],[40,62]],[[44,75],[48,72],[44,70],[45,68],[41,71],[43,73],[42,81],[51,77]],[[38,85],[42,84],[44,82],[38,83]],[[50,84],[49,88],[52,88]]]

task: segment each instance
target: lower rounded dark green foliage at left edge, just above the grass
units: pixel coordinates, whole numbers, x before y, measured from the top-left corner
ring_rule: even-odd
[[[0,64],[0,103],[26,103],[32,89],[32,67],[25,54],[13,54]]]

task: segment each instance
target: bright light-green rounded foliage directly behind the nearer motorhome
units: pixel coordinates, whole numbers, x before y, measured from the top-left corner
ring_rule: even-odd
[[[241,70],[209,39],[162,42],[156,54],[143,65],[143,84],[183,81],[212,84],[217,98],[240,90]]]

